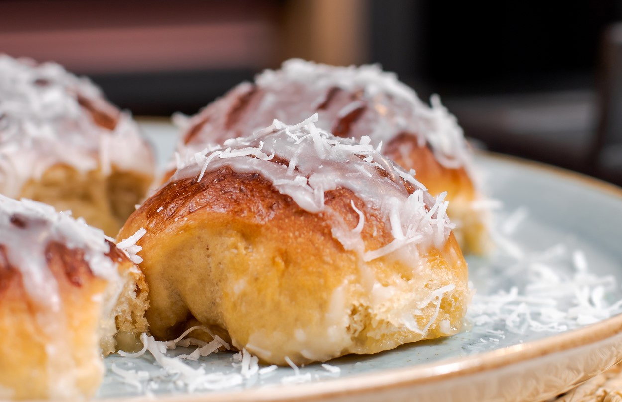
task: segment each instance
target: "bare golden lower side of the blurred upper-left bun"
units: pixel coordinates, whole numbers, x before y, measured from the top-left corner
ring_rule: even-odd
[[[17,198],[27,198],[52,205],[59,211],[70,210],[74,217],[116,236],[123,223],[144,200],[153,177],[139,172],[101,170],[79,172],[58,164],[40,179],[30,179]]]

